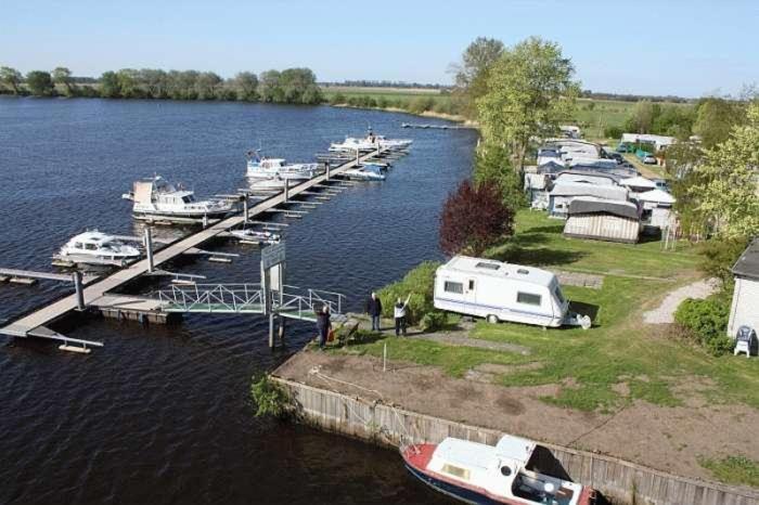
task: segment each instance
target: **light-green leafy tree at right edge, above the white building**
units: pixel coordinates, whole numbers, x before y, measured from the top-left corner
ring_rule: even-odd
[[[746,119],[706,151],[693,169],[699,182],[690,189],[698,209],[729,239],[759,234],[759,103],[748,106]]]

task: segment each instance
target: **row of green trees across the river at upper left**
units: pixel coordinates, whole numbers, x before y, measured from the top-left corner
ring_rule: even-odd
[[[236,100],[292,104],[323,101],[317,77],[309,68],[241,72],[223,79],[213,72],[121,68],[99,79],[74,77],[66,67],[52,73],[33,70],[23,76],[0,67],[0,92],[34,96],[92,96],[105,99]]]

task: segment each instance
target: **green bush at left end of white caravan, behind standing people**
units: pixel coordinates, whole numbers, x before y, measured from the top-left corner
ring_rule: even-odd
[[[434,312],[433,295],[435,290],[435,271],[440,266],[437,261],[424,261],[408,272],[403,279],[389,284],[377,293],[382,300],[383,315],[393,318],[396,300],[411,295],[407,309],[407,322],[417,324],[423,316]]]

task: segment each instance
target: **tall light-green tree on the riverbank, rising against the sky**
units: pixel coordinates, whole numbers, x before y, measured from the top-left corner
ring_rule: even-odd
[[[519,173],[531,139],[556,134],[570,117],[580,93],[574,75],[562,48],[539,37],[506,49],[489,70],[488,92],[477,100],[483,134],[510,148]]]

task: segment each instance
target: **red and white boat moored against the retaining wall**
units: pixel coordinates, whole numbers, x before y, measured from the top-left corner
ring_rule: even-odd
[[[504,436],[496,446],[447,438],[401,449],[411,474],[435,490],[471,504],[591,505],[595,492],[527,469],[536,443]]]

